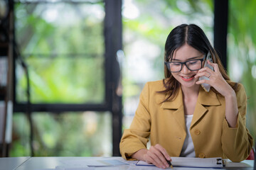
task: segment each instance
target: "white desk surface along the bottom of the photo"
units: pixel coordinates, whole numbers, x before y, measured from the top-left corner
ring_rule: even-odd
[[[94,160],[114,159],[122,162],[122,157],[9,157],[0,158],[0,170],[54,170],[56,166],[68,166],[68,164],[81,164],[81,162],[90,162]],[[136,166],[136,162],[126,162],[129,165],[122,166],[99,166],[90,169],[121,169],[121,170],[154,170],[159,169],[155,166]],[[228,162],[225,169],[252,169],[254,161],[245,160],[240,163]],[[195,168],[177,168],[196,170]],[[79,169],[80,170],[80,169]],[[86,170],[86,169],[85,169]],[[203,170],[203,169],[200,169]]]

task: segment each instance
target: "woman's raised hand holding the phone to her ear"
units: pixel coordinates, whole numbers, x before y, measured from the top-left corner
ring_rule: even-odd
[[[220,73],[220,69],[218,68],[217,63],[212,63],[209,60],[207,60],[208,64],[213,67],[214,71],[211,70],[208,67],[204,67],[203,69],[199,69],[198,73],[196,74],[195,78],[197,77],[208,77],[207,79],[202,79],[199,81],[196,81],[196,84],[210,84],[210,86],[213,86],[213,88],[218,91],[222,96],[229,96],[230,94],[233,94],[235,91],[233,91],[232,87],[225,81],[223,76]]]

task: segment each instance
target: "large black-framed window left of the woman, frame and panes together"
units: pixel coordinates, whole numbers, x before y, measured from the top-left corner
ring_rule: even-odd
[[[14,13],[16,145],[12,156],[29,154],[23,144],[28,143],[24,141],[28,141],[30,128],[21,128],[28,122],[26,115],[20,114],[28,110],[32,112],[35,156],[119,155],[122,94],[117,94],[117,51],[122,50],[121,1],[14,1]],[[28,65],[31,105],[27,105],[28,84],[22,61]],[[65,130],[68,126],[73,132]],[[61,136],[59,130],[69,137]],[[102,132],[107,137],[100,135]],[[61,144],[63,140],[70,145]],[[103,152],[96,144],[105,148]],[[53,146],[58,150],[52,152]],[[67,147],[77,152],[71,153]]]

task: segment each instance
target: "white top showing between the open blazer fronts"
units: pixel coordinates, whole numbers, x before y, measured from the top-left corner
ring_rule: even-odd
[[[195,149],[193,147],[192,137],[189,132],[192,118],[193,118],[193,115],[185,115],[186,139],[184,141],[180,157],[196,157]]]

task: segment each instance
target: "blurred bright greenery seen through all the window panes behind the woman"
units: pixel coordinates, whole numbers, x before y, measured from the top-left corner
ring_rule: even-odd
[[[228,74],[245,85],[247,128],[254,138],[255,3],[229,1],[228,25]],[[29,66],[32,102],[101,103],[105,93],[104,3],[17,3],[15,8],[16,39]],[[146,81],[164,78],[164,43],[170,31],[182,23],[196,23],[213,44],[213,0],[123,0],[122,23],[123,128],[129,128]],[[24,102],[25,74],[16,64],[16,97]],[[33,121],[35,156],[112,156],[109,112],[33,113]],[[29,156],[28,129],[26,115],[15,113],[11,157]]]

